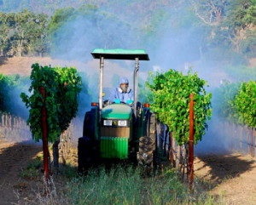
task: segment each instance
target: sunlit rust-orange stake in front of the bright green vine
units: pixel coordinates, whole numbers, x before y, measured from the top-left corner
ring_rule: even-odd
[[[194,94],[189,95],[189,189],[194,186]]]

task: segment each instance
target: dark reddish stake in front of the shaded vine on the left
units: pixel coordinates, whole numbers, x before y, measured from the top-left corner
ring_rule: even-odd
[[[46,92],[44,87],[39,88],[40,94],[43,96],[44,105],[41,110],[41,128],[42,128],[42,140],[43,140],[43,155],[44,155],[44,179],[49,182],[49,146],[48,146],[48,123],[47,123],[47,110],[45,107]]]

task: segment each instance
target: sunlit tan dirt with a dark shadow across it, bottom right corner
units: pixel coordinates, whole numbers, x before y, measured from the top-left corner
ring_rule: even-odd
[[[225,204],[256,204],[256,158],[241,154],[195,158],[195,176],[210,183],[210,193]]]

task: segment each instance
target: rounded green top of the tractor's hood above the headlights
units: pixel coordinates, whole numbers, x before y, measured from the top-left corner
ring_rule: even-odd
[[[102,108],[102,118],[104,119],[124,119],[131,118],[131,106],[124,104],[113,104]]]

